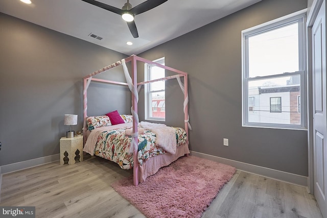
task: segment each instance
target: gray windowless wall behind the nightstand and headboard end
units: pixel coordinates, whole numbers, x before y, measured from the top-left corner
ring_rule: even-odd
[[[0,165],[58,154],[64,114],[82,129],[82,78],[127,56],[2,13],[0,29]],[[121,69],[100,76],[124,81]],[[88,115],[130,114],[125,92],[91,83]]]

